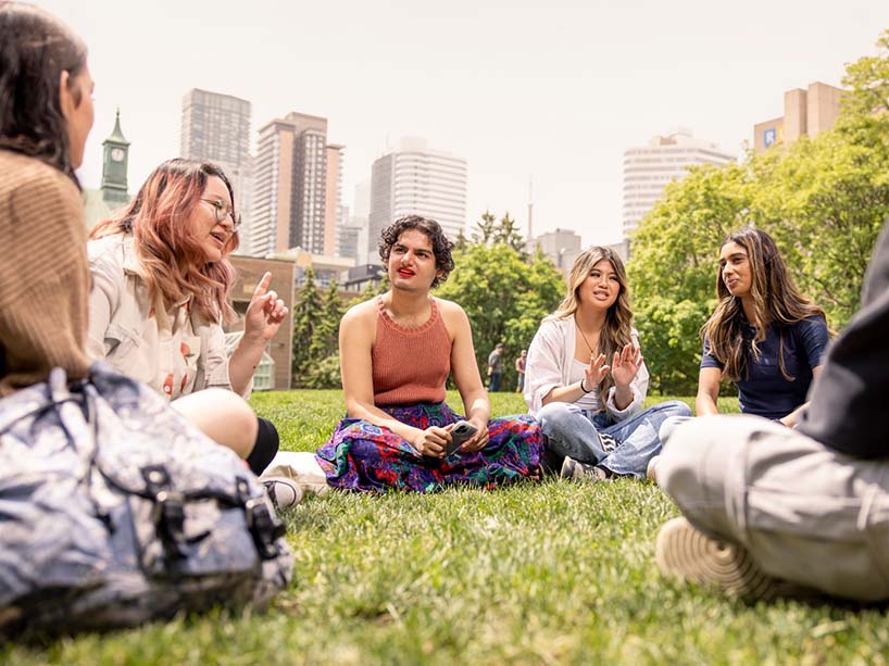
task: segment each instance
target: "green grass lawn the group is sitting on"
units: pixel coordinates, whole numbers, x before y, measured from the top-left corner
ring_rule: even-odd
[[[458,405],[455,395],[451,404]],[[650,399],[656,402],[659,399]],[[661,399],[662,400],[662,399]],[[284,448],[314,450],[339,391],[253,397]],[[497,415],[524,411],[493,397]],[[737,411],[727,400],[726,411]],[[549,479],[494,492],[333,492],[285,514],[295,581],[266,613],[214,613],[46,645],[10,664],[885,664],[879,610],[747,605],[664,580],[654,486]]]

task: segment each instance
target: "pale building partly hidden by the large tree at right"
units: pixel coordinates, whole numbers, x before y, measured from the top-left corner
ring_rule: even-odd
[[[696,139],[689,129],[652,138],[648,146],[624,151],[624,237],[639,226],[664,187],[699,164],[727,164],[734,155],[711,141]]]

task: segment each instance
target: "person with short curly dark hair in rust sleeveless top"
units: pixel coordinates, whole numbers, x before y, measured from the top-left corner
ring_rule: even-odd
[[[452,247],[437,222],[416,215],[383,231],[391,289],[354,305],[340,324],[347,417],[315,453],[330,487],[428,492],[539,477],[539,426],[528,415],[490,419],[469,319],[429,293],[454,266]],[[475,430],[452,451],[462,417],[444,402],[451,374]]]

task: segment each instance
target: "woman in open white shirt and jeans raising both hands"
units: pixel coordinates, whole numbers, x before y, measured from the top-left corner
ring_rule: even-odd
[[[575,260],[568,293],[540,325],[525,368],[525,401],[550,453],[564,456],[563,477],[646,476],[661,424],[691,416],[679,401],[643,411],[648,380],[624,264],[609,248],[590,248]]]

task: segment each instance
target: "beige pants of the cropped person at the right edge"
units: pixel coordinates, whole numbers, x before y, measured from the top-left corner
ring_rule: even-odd
[[[669,433],[656,475],[692,525],[743,545],[765,573],[889,599],[889,460],[841,455],[756,416],[705,416]]]

